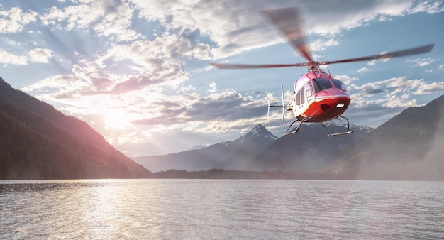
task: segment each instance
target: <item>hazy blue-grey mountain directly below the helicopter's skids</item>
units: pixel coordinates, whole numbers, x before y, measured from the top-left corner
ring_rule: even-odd
[[[321,124],[304,124],[298,133],[283,136],[257,156],[256,170],[316,172],[328,167],[346,148],[373,129],[350,126],[351,134],[328,136]],[[345,132],[345,126],[328,126],[332,133]]]

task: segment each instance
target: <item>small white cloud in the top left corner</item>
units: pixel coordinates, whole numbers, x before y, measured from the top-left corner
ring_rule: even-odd
[[[17,33],[23,31],[23,26],[35,21],[35,11],[23,13],[19,7],[13,7],[9,11],[0,11],[0,33]]]

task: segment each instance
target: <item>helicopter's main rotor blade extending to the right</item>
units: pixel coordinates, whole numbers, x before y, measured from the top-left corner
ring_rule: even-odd
[[[416,48],[409,48],[406,50],[399,50],[392,53],[382,53],[377,55],[371,55],[366,57],[360,57],[360,58],[348,58],[343,60],[335,60],[335,61],[326,61],[323,62],[323,64],[328,65],[332,63],[340,63],[340,62],[359,62],[359,61],[367,61],[367,60],[377,60],[382,58],[398,58],[408,55],[416,55],[420,53],[428,53],[433,49],[433,46],[435,46],[435,43],[423,45],[421,47]]]

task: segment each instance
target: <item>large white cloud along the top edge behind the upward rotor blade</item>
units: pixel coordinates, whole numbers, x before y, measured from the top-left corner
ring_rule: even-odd
[[[183,33],[188,39],[207,36],[213,48],[215,58],[225,58],[244,50],[261,48],[284,39],[259,12],[264,9],[298,6],[308,13],[317,9],[329,9],[323,13],[323,21],[318,21],[316,14],[304,14],[308,34],[314,33],[325,38],[312,43],[313,50],[325,50],[338,45],[337,36],[343,30],[357,28],[377,19],[377,16],[400,16],[411,3],[405,1],[374,2],[355,1],[347,3],[347,9],[338,2],[313,1],[187,1],[186,4],[170,1],[168,4],[156,4],[150,1],[133,0],[139,16],[147,21],[159,21],[170,33]],[[334,6],[334,7],[333,7]],[[339,7],[338,7],[339,6]],[[365,11],[360,11],[365,9]],[[167,17],[165,17],[167,16]],[[338,18],[338,16],[341,16]],[[381,19],[381,18],[379,18]],[[199,23],[199,28],[196,28]]]

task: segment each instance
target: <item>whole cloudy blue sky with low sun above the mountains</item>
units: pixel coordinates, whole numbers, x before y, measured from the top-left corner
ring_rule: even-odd
[[[431,53],[330,65],[352,96],[351,124],[384,124],[444,94],[444,1],[3,0],[0,77],[86,121],[127,156],[234,140],[280,110],[305,67],[219,70],[210,62],[305,62],[260,11],[303,13],[314,60],[435,43]]]

